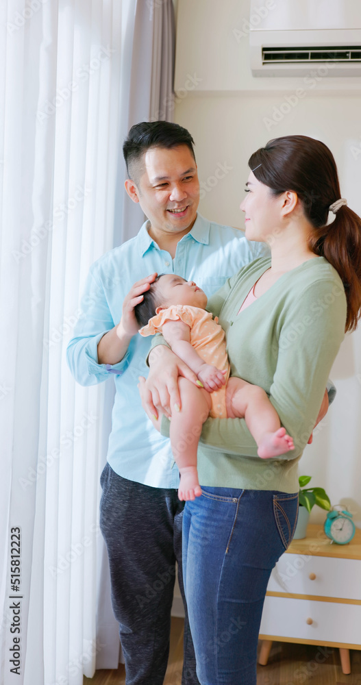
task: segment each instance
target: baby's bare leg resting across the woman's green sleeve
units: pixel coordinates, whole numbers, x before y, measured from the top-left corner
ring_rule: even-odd
[[[292,438],[281,428],[279,416],[266,393],[241,378],[229,378],[225,393],[229,419],[244,418],[258,445],[258,456],[274,458],[295,449]]]

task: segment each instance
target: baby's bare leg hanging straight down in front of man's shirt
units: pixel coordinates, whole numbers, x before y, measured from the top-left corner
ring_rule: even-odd
[[[201,495],[197,474],[197,447],[202,425],[210,412],[210,393],[197,388],[186,378],[179,378],[182,409],[171,418],[171,447],[180,473],[179,499]]]

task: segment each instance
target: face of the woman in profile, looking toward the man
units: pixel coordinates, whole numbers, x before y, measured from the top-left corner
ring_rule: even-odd
[[[245,236],[247,240],[270,242],[282,229],[282,206],[284,196],[275,197],[271,188],[249,174],[247,194],[240,205],[245,212]]]

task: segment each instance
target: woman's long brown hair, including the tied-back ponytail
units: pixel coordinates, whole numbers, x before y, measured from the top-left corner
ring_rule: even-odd
[[[270,140],[249,158],[249,168],[274,195],[297,192],[314,231],[310,249],[334,266],[345,287],[346,331],[356,329],[361,316],[361,219],[349,207],[337,210],[327,224],[329,206],[340,199],[340,184],[332,152],[320,140],[284,136]]]

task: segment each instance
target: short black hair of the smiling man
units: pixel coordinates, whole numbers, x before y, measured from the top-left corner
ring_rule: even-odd
[[[169,121],[141,121],[134,124],[123,143],[123,155],[129,178],[138,184],[142,156],[150,147],[171,149],[178,145],[186,145],[195,160],[194,144],[190,133],[179,124]]]

